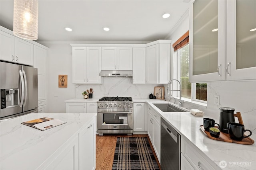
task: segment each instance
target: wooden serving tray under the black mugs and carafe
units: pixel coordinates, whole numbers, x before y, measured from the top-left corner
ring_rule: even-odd
[[[216,127],[218,128],[218,127]],[[207,132],[204,130],[204,125],[200,125],[200,129],[203,131],[203,133],[210,139],[216,140],[216,141],[223,141],[223,142],[230,142],[230,143],[238,143],[243,145],[252,145],[254,144],[254,140],[252,140],[250,137],[242,139],[242,141],[236,141],[233,139],[230,139],[228,133],[220,132],[220,136],[218,138],[212,137],[210,135],[210,132]]]

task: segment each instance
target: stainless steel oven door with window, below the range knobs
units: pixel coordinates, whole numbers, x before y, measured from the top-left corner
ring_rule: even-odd
[[[132,112],[98,111],[98,129],[133,129]]]

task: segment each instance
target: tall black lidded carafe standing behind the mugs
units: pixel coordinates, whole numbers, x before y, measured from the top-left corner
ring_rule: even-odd
[[[228,133],[228,122],[235,122],[234,111],[232,107],[220,107],[220,131]]]

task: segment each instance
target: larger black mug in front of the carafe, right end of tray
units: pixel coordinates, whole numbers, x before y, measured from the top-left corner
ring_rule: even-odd
[[[242,139],[250,136],[244,136],[244,132],[246,131],[249,131],[250,135],[252,135],[252,131],[244,129],[244,125],[235,122],[228,122],[228,134],[231,139],[242,141]]]

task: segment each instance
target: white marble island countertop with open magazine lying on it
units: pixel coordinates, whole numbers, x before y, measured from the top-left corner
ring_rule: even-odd
[[[45,131],[21,124],[41,117],[67,123]],[[1,122],[0,169],[35,170],[94,117],[96,113],[30,113]]]

